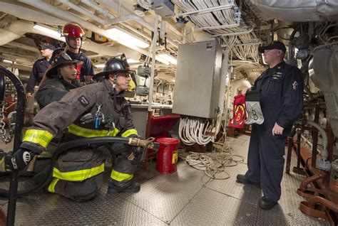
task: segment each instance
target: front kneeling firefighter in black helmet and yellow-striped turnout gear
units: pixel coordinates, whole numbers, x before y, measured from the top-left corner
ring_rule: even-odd
[[[66,133],[64,141],[97,136],[138,137],[123,97],[129,87],[130,72],[122,60],[111,58],[103,72],[93,77],[102,82],[71,90],[60,101],[41,109],[34,117],[33,127],[26,131],[20,149],[4,158],[6,168],[24,169],[32,156],[45,151],[53,137],[62,132]],[[62,154],[53,168],[48,191],[77,201],[95,197],[103,182],[103,149],[85,146]],[[137,167],[137,159],[130,158],[133,148],[115,143],[111,150],[122,154],[113,163],[108,193],[138,192],[140,185],[132,181]]]

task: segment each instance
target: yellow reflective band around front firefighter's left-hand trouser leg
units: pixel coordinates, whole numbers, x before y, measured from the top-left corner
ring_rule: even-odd
[[[87,168],[80,171],[61,172],[58,168],[53,168],[53,177],[64,181],[84,181],[98,175],[104,171],[104,163],[100,166]]]

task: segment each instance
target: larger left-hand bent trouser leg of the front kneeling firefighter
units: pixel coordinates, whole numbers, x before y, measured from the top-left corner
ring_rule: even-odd
[[[72,149],[61,154],[48,191],[76,201],[91,200],[103,184],[104,160],[98,149]]]

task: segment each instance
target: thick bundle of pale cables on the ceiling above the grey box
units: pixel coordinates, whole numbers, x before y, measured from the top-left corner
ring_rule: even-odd
[[[183,12],[231,5],[230,9],[215,10],[203,14],[190,14],[188,18],[198,28],[204,28],[204,31],[220,37],[222,43],[233,51],[235,58],[253,60],[255,63],[259,62],[257,45],[260,45],[260,40],[254,32],[250,32],[250,26],[247,26],[245,21],[240,17],[240,9],[234,0],[173,0],[173,3]],[[228,27],[217,28],[217,26]]]

